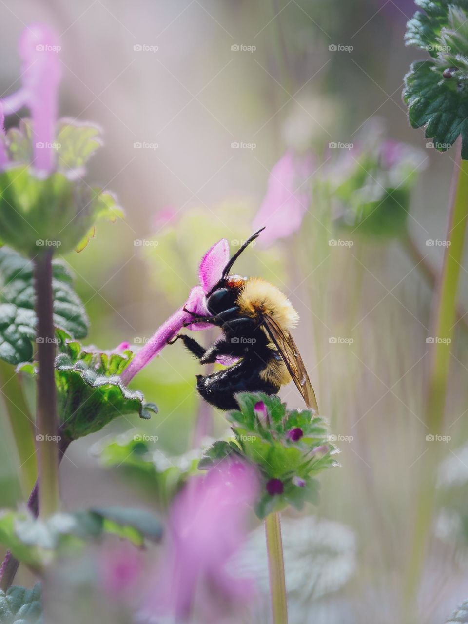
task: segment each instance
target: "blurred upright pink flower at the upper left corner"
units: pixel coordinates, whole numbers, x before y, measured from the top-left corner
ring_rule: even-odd
[[[27,27],[19,41],[22,59],[22,87],[3,100],[4,113],[11,115],[27,106],[32,117],[32,164],[41,172],[55,167],[52,144],[55,140],[57,99],[61,66],[56,34],[44,24]]]

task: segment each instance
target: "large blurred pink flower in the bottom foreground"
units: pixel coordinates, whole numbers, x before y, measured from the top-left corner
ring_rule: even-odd
[[[145,611],[179,621],[195,608],[200,621],[218,622],[229,603],[250,597],[252,583],[233,577],[227,563],[243,544],[257,493],[256,474],[242,462],[222,462],[188,481],[172,505],[170,542]]]

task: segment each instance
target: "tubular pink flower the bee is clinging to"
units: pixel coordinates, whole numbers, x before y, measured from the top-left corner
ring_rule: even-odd
[[[202,258],[198,277],[200,285],[194,286],[188,295],[187,302],[177,310],[170,318],[163,323],[156,333],[152,336],[144,348],[142,348],[132,359],[129,366],[122,373],[122,381],[128,384],[139,371],[144,368],[161,349],[166,346],[167,342],[174,338],[182,329],[184,323],[192,320],[192,314],[189,314],[183,308],[200,314],[202,316],[210,316],[205,302],[205,295],[220,280],[223,268],[229,260],[229,244],[225,238],[213,245]],[[209,323],[196,323],[189,326],[193,331],[206,329],[210,327]]]

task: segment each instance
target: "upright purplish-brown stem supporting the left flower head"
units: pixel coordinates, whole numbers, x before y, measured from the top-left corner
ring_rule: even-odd
[[[52,292],[52,251],[34,260],[37,314],[37,454],[39,513],[47,517],[59,507],[59,440],[54,374],[55,334]]]

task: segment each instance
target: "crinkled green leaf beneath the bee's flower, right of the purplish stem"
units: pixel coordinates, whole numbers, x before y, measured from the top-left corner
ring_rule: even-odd
[[[148,419],[157,412],[154,403],[145,403],[139,391],[130,391],[120,373],[132,358],[132,352],[122,353],[84,348],[58,330],[59,355],[56,358],[57,409],[61,434],[76,440],[100,431],[119,416],[139,414]],[[35,364],[24,364],[19,370],[34,375]]]

